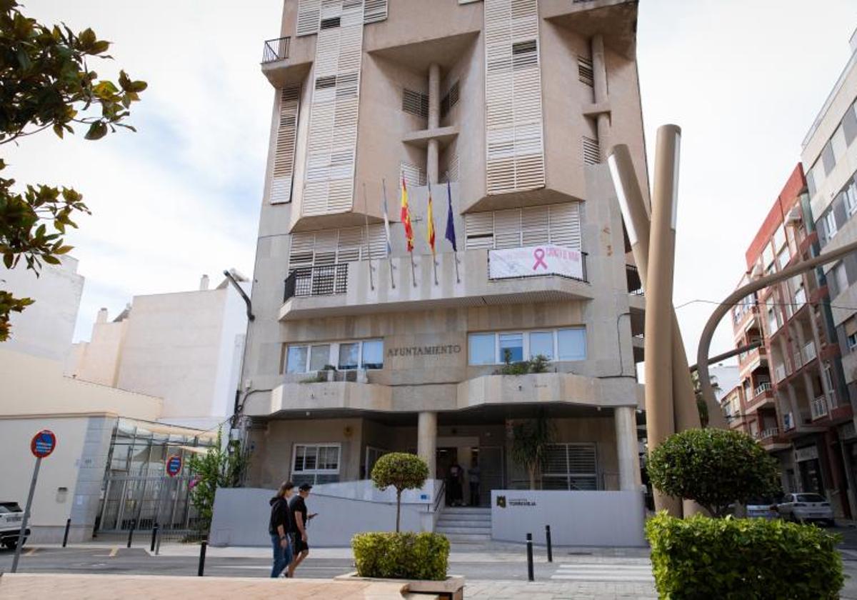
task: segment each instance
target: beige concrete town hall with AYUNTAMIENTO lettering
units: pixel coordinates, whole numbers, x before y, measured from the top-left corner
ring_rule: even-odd
[[[512,424],[542,411],[543,488],[639,489],[644,297],[602,164],[628,144],[648,189],[636,21],[616,0],[285,1],[262,63],[249,485],[366,479],[404,451],[438,478],[478,462],[484,505],[528,485]],[[538,354],[548,373],[499,374]]]

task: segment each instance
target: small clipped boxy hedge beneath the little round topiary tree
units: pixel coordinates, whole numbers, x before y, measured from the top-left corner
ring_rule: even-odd
[[[357,533],[351,549],[360,577],[446,579],[449,540],[439,533]]]

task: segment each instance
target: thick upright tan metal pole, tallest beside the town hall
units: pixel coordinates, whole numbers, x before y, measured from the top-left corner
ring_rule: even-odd
[[[675,432],[673,402],[673,264],[681,130],[657,129],[645,310],[645,409],[649,450]],[[685,372],[686,373],[686,372]],[[655,490],[655,507],[680,517],[681,501]]]

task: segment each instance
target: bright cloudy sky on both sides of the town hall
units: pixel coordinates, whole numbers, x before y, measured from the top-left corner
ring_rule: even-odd
[[[292,1],[292,0],[290,0]],[[431,0],[419,0],[428,2]],[[93,27],[119,68],[149,83],[122,131],[27,138],[7,153],[19,182],[80,191],[93,216],[69,235],[86,277],[75,340],[131,297],[253,271],[273,88],[262,44],[282,0],[27,0],[26,14]],[[854,0],[641,0],[638,69],[650,168],[656,129],[682,128],[674,303],[695,361],[713,303],[734,290],[744,252],[848,61]],[[705,301],[705,302],[699,302]],[[728,319],[712,354],[734,347]]]

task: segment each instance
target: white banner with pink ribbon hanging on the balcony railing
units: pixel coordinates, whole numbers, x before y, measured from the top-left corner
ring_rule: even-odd
[[[579,250],[545,244],[488,251],[488,277],[535,277],[563,275],[584,279],[583,255]]]

